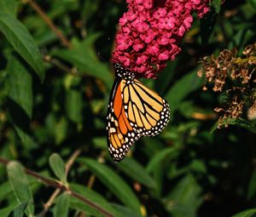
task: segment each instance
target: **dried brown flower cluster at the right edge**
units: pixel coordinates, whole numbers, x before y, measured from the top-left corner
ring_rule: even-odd
[[[256,43],[248,45],[241,57],[238,56],[237,49],[224,49],[218,57],[206,56],[201,63],[202,68],[198,71],[198,76],[204,75],[206,83],[213,83],[213,91],[225,91],[222,105],[215,108],[215,111],[223,114],[219,117],[219,126],[227,117],[240,117],[245,105],[249,106],[248,119],[254,119],[256,117]],[[232,83],[230,89],[226,88],[228,80]],[[203,90],[207,90],[206,85]]]

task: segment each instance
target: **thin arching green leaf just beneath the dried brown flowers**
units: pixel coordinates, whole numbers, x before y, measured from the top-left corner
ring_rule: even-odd
[[[226,118],[221,120],[221,124],[220,126],[225,126],[225,125],[237,125],[241,128],[247,128],[247,130],[249,130],[250,132],[252,132],[253,134],[256,134],[256,127],[252,124],[249,123],[247,120],[242,119],[241,117],[239,118]],[[217,128],[218,128],[219,123],[216,122],[214,123],[214,125],[211,128],[210,133],[212,134]]]

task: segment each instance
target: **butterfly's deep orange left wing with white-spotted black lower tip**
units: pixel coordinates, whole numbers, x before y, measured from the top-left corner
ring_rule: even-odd
[[[133,143],[139,139],[125,115],[122,99],[124,85],[124,79],[115,81],[108,103],[108,151],[115,162],[122,160]]]

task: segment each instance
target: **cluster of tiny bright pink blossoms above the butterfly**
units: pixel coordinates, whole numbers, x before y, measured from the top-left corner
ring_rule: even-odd
[[[181,51],[178,47],[197,12],[207,14],[209,0],[126,0],[128,11],[119,20],[112,62],[155,77]]]

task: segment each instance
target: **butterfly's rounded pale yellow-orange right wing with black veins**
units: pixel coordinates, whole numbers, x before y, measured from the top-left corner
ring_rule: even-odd
[[[154,136],[166,127],[170,108],[154,90],[135,78],[125,83],[123,96],[125,115],[138,136]]]

